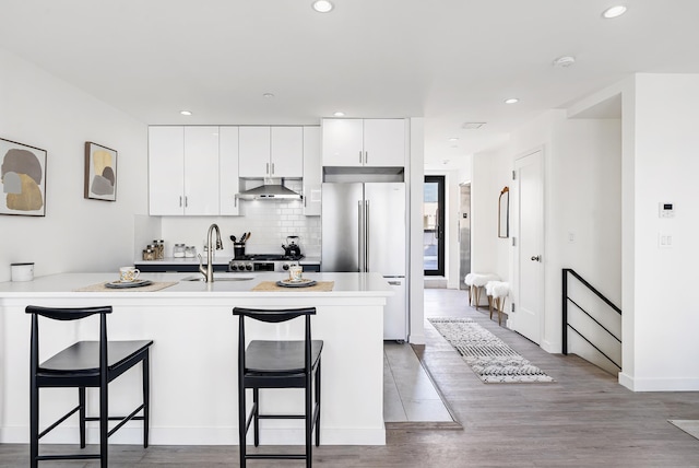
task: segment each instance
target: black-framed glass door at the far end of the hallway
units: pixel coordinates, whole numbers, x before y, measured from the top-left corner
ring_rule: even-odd
[[[445,276],[445,176],[425,176],[423,197],[425,276]]]

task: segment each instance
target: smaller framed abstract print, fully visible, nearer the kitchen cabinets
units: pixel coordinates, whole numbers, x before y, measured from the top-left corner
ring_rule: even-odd
[[[85,198],[117,201],[117,151],[85,142]]]

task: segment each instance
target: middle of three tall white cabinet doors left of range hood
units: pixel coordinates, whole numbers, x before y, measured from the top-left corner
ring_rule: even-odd
[[[218,127],[185,127],[185,214],[218,214]]]

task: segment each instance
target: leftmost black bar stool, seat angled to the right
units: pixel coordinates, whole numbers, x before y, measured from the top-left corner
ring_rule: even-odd
[[[99,459],[107,467],[107,437],[130,420],[143,421],[143,447],[149,446],[149,349],[153,341],[107,341],[107,314],[110,306],[84,308],[56,308],[29,305],[26,313],[32,314],[31,344],[31,408],[29,408],[29,456],[31,467],[36,468],[40,460]],[[39,364],[38,317],[54,320],[78,320],[99,314],[99,341],[78,341],[74,344]],[[133,367],[143,363],[143,403],[126,417],[109,417],[107,385]],[[39,432],[39,388],[78,388],[78,406],[58,421]],[[85,411],[85,388],[99,388],[99,417],[87,417]],[[143,410],[143,416],[137,416]],[[39,438],[56,429],[69,417],[79,412],[80,447],[85,448],[85,421],[99,421],[99,453],[74,455],[39,455]],[[120,421],[111,431],[108,421]]]

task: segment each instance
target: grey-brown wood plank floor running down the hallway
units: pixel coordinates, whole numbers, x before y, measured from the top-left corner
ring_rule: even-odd
[[[391,424],[386,446],[321,446],[318,467],[699,467],[699,440],[667,422],[699,420],[699,393],[635,394],[579,358],[548,354],[466,306],[466,293],[425,290],[427,316],[473,317],[556,379],[554,384],[482,384],[427,325],[417,351],[463,429],[408,430]],[[422,348],[422,349],[420,349]],[[295,452],[297,447],[289,447]],[[0,467],[25,467],[26,445],[0,445]],[[237,466],[236,446],[110,447],[110,467]],[[42,467],[94,467],[61,463]],[[250,467],[300,467],[257,461]]]

